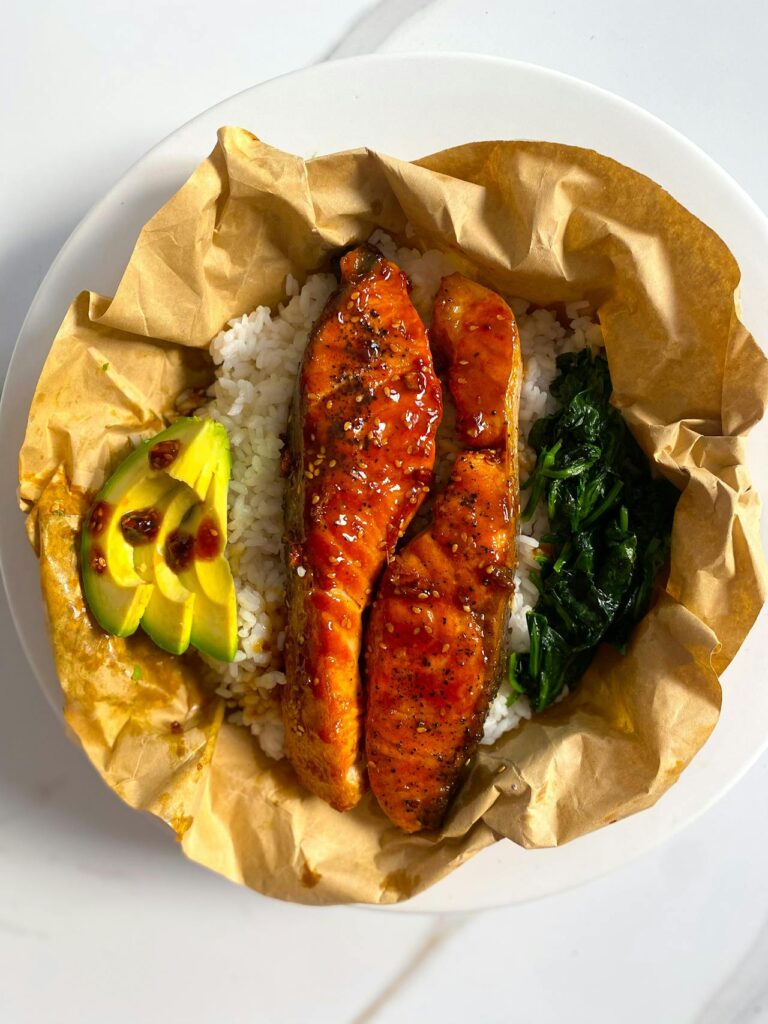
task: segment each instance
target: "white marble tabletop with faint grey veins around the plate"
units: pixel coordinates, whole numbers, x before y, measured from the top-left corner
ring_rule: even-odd
[[[768,210],[762,0],[215,10],[226,39],[202,0],[4,11],[0,375],[47,266],[127,166],[217,99],[319,59],[464,49],[570,72],[682,130]],[[768,758],[662,849],[556,898],[444,919],[312,910],[185,862],[120,805],[38,691],[4,597],[0,688],[3,1021],[768,1021]]]

